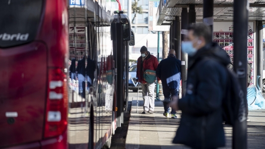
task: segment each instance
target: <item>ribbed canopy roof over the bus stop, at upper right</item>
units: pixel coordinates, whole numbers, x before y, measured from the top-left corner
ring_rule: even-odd
[[[233,20],[234,0],[214,0],[214,20]],[[249,20],[265,20],[265,0],[249,1]],[[158,25],[169,25],[175,16],[181,16],[182,7],[195,4],[196,19],[203,19],[203,0],[160,0]],[[157,14],[158,16],[158,14]]]

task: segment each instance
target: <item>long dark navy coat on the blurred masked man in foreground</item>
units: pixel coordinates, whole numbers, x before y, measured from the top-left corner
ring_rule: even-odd
[[[227,81],[227,53],[216,43],[189,57],[186,95],[179,99],[180,126],[173,140],[193,148],[225,146],[222,98]]]

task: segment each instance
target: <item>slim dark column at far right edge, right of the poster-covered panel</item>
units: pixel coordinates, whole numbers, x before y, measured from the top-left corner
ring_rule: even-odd
[[[257,75],[260,78],[257,80],[258,86],[262,91],[262,51],[263,51],[263,26],[262,20],[257,21],[257,48],[256,48],[256,57],[257,57]]]

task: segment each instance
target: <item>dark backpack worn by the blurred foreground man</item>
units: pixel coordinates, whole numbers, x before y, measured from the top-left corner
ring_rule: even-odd
[[[234,125],[236,120],[242,122],[246,119],[246,104],[243,98],[243,90],[235,73],[227,69],[227,74],[225,95],[222,101],[223,120],[227,124]]]

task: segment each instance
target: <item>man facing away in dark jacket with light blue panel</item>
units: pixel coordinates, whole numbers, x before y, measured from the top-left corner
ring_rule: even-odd
[[[181,79],[181,61],[177,59],[174,49],[169,50],[168,58],[160,61],[156,70],[156,74],[162,81],[163,94],[165,97],[163,102],[165,112],[163,115],[170,117],[170,97],[178,96]],[[171,109],[171,117],[177,118],[176,110]]]

